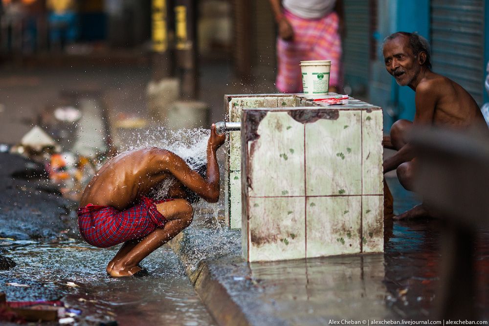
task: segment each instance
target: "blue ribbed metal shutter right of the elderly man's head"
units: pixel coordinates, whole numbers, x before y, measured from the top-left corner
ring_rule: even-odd
[[[484,0],[431,0],[433,71],[464,87],[481,106]]]

